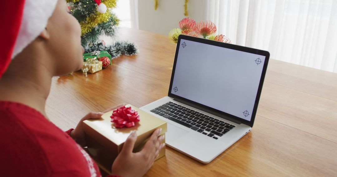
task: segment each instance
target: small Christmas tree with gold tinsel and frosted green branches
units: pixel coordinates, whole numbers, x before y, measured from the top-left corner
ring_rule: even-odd
[[[99,39],[99,36],[116,36],[119,19],[112,9],[117,0],[67,0],[71,14],[79,21],[82,30],[82,46],[86,53],[108,51],[112,58],[120,55],[134,55],[137,48],[131,42],[116,41],[111,45]]]

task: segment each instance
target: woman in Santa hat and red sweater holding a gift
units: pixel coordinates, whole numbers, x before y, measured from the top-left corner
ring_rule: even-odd
[[[0,8],[5,24],[0,47],[1,176],[100,176],[81,148],[86,145],[82,121],[103,113],[87,114],[65,133],[44,110],[52,77],[82,67],[78,21],[65,0],[4,1]],[[143,176],[164,146],[159,132],[139,153],[132,153],[136,134],[131,133],[112,165],[113,174]]]

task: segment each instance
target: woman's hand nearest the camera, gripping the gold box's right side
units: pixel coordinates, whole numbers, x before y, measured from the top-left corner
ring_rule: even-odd
[[[161,129],[155,130],[142,151],[132,153],[137,139],[136,131],[133,131],[124,142],[122,151],[112,165],[112,174],[123,177],[143,176],[153,165],[159,151],[165,145],[165,143],[160,144],[164,139],[164,135],[158,137],[160,132]]]

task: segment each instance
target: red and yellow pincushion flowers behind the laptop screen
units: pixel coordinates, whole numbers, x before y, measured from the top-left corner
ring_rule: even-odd
[[[232,41],[224,35],[215,35],[216,26],[210,20],[202,20],[196,23],[194,19],[186,17],[179,21],[179,28],[174,28],[168,33],[168,38],[173,42],[178,42],[178,36],[188,35],[197,37],[203,36],[204,39],[220,41],[231,44]]]

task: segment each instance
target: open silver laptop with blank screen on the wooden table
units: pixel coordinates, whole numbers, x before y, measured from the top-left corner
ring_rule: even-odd
[[[269,52],[180,35],[167,97],[141,109],[167,122],[166,144],[209,163],[247,134]]]

